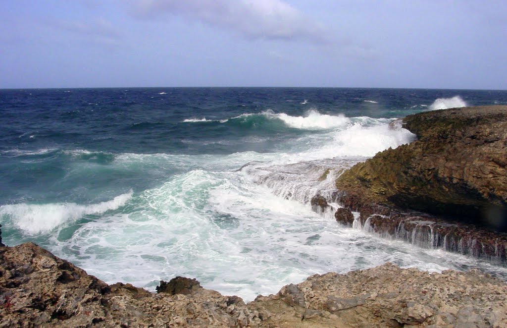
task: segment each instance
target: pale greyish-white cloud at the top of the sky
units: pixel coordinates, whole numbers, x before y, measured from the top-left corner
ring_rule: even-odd
[[[280,0],[138,0],[130,4],[138,17],[184,15],[246,38],[330,42],[321,24]]]

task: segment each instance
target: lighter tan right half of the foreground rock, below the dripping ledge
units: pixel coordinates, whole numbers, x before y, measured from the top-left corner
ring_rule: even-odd
[[[507,285],[477,272],[428,274],[392,264],[327,273],[248,305],[280,327],[502,327]]]

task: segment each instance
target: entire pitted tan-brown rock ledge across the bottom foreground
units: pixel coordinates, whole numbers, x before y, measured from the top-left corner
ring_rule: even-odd
[[[195,279],[158,289],[108,286],[31,243],[0,247],[0,327],[507,326],[507,284],[476,271],[385,264],[314,275],[248,304]]]

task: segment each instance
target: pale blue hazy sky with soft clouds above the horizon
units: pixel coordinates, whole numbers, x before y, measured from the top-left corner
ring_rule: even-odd
[[[507,1],[2,0],[0,88],[507,89]]]

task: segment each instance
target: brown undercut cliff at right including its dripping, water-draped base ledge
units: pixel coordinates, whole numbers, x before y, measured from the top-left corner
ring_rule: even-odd
[[[314,209],[336,202],[342,224],[507,265],[507,106],[423,112],[392,124],[418,140],[343,172],[333,198],[316,196]]]

